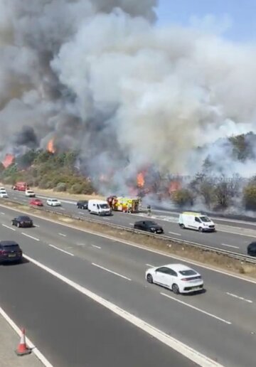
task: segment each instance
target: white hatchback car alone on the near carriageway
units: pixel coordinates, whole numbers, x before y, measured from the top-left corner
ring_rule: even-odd
[[[203,279],[196,270],[182,264],[151,267],[146,270],[146,280],[171,289],[175,294],[191,293],[203,289]]]

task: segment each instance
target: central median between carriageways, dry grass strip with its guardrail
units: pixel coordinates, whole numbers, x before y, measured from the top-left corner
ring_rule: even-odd
[[[105,236],[111,240],[119,240],[129,245],[139,245],[149,250],[157,250],[166,255],[197,262],[198,265],[213,267],[218,270],[225,270],[242,277],[256,279],[256,261],[253,258],[235,252],[222,251],[197,243],[190,243],[183,240],[176,240],[163,235],[153,235],[143,233],[132,228],[124,228],[112,223],[102,223],[97,218],[85,218],[72,216],[67,213],[58,213],[46,208],[35,208],[26,203],[18,203],[5,200],[2,207],[37,216],[45,220],[50,220],[61,225],[68,225],[72,228],[83,230],[87,233]]]

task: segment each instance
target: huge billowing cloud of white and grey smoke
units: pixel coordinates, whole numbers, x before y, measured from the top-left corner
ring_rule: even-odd
[[[55,137],[122,184],[149,164],[193,174],[196,147],[255,131],[255,46],[159,29],[156,2],[0,0],[3,153]]]

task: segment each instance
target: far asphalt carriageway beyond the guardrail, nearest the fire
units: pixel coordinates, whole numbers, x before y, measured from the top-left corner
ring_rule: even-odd
[[[9,198],[19,201],[21,203],[28,203],[29,198],[25,197],[25,194],[21,191],[9,190]],[[38,196],[43,198],[43,196]],[[3,200],[3,199],[2,199]],[[46,203],[45,199],[43,199]],[[128,228],[133,228],[134,222],[136,220],[141,220],[146,215],[140,213],[138,215],[126,214],[114,212],[111,217],[99,217],[88,213],[87,210],[78,210],[75,206],[75,201],[63,201],[62,207],[49,207],[49,210],[58,211],[60,213],[75,214],[76,216],[95,218],[95,220],[100,220],[103,223],[115,223],[117,225],[124,225]],[[146,218],[148,218],[146,216]],[[177,240],[187,240],[194,243],[200,243],[203,245],[208,245],[213,248],[219,248],[222,250],[230,250],[232,252],[238,252],[242,254],[247,254],[247,245],[252,241],[256,240],[256,226],[255,223],[245,223],[239,221],[226,222],[226,220],[215,220],[217,223],[217,232],[215,233],[198,233],[194,230],[182,230],[178,226],[178,216],[174,214],[166,215],[164,212],[154,212],[152,217],[157,223],[161,224],[164,228],[165,235],[169,235],[171,238],[176,238]]]

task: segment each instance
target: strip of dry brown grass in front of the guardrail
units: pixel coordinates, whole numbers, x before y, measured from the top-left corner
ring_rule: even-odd
[[[225,255],[194,248],[190,245],[178,243],[178,241],[175,240],[152,238],[150,235],[146,234],[132,233],[128,230],[119,230],[117,228],[112,228],[111,225],[107,223],[98,224],[86,220],[76,220],[68,218],[65,215],[57,215],[42,211],[38,208],[31,208],[25,204],[17,205],[8,201],[5,201],[5,203],[6,206],[18,209],[18,211],[24,211],[31,215],[34,214],[36,216],[40,216],[41,218],[55,220],[59,223],[67,223],[67,225],[71,225],[73,228],[80,228],[85,231],[88,230],[93,233],[108,235],[114,239],[142,245],[144,248],[152,248],[169,255],[176,255],[178,257],[182,257],[184,260],[193,260],[203,265],[209,265],[231,273],[256,278],[256,265],[235,260]]]

